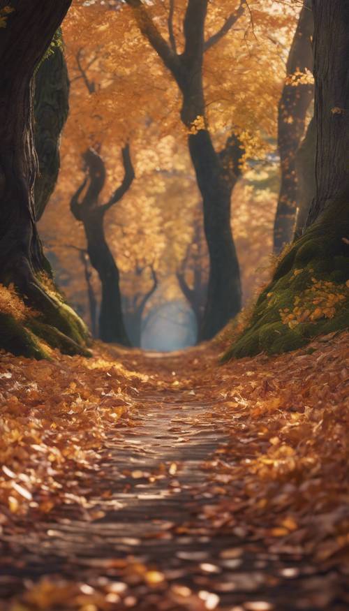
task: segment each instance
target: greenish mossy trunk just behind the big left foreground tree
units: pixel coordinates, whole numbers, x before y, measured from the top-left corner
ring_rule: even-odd
[[[59,41],[41,61],[35,77],[34,140],[39,173],[34,187],[36,221],[52,195],[59,173],[59,140],[68,117],[69,81]]]

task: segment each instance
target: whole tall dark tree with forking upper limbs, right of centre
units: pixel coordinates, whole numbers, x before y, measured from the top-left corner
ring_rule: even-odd
[[[188,0],[184,17],[184,50],[177,52],[169,15],[169,43],[151,19],[140,0],[126,0],[133,9],[142,34],[157,52],[181,91],[181,121],[188,128],[188,147],[202,193],[205,235],[209,249],[210,272],[207,304],[200,339],[213,337],[241,307],[239,263],[230,228],[232,189],[240,175],[242,145],[232,134],[225,147],[216,151],[206,118],[203,84],[205,50],[217,43],[244,13],[245,1],[232,13],[216,34],[205,41],[208,0]],[[173,8],[173,3],[170,4]]]

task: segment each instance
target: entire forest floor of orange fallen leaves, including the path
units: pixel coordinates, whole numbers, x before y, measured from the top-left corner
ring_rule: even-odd
[[[0,355],[0,610],[348,611],[348,333]]]

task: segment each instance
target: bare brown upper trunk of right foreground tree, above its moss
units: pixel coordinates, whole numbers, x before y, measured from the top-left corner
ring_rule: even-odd
[[[316,192],[307,226],[346,199],[349,215],[349,0],[313,1]]]

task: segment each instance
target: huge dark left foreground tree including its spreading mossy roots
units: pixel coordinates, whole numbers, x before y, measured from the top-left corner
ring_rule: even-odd
[[[14,284],[31,306],[40,312],[36,321],[43,336],[53,345],[69,346],[70,353],[84,351],[87,330],[63,300],[47,290],[40,274],[50,273],[36,228],[34,182],[38,159],[34,147],[34,73],[59,28],[71,0],[0,0],[7,8],[0,34],[0,283]],[[12,9],[12,10],[11,10]],[[50,333],[43,325],[50,327]],[[17,351],[45,355],[31,332],[6,325],[8,337],[15,337]],[[8,348],[6,329],[0,344]],[[22,341],[22,337],[27,340]],[[61,337],[62,336],[62,337]],[[56,337],[56,340],[54,340]],[[22,342],[22,344],[21,344]]]

